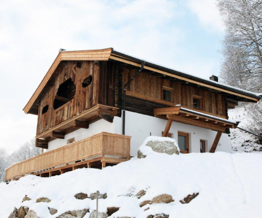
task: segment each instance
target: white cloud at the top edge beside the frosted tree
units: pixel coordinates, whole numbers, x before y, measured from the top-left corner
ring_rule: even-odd
[[[216,0],[189,0],[188,7],[197,15],[198,21],[204,28],[211,31],[224,31]]]

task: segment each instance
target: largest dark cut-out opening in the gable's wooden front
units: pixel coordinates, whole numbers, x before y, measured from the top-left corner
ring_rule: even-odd
[[[58,109],[65,103],[71,101],[75,94],[75,84],[71,78],[60,84],[54,98],[54,109]]]

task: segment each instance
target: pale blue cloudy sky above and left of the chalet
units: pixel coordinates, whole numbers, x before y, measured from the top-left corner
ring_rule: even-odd
[[[223,36],[215,0],[0,0],[0,148],[35,136],[22,109],[60,48],[112,47],[209,79]]]

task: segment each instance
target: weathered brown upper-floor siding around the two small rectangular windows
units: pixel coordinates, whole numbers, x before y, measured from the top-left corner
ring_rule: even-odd
[[[137,69],[123,68],[123,85],[136,71]],[[173,88],[172,103],[163,100],[163,85]],[[167,107],[167,105],[170,107],[181,104],[183,107],[193,109],[193,94],[202,97],[204,112],[223,117],[226,116],[224,95],[212,93],[209,90],[204,90],[192,84],[163,79],[148,72],[140,73],[127,87],[126,105],[127,109],[149,115],[153,115],[151,108]]]

